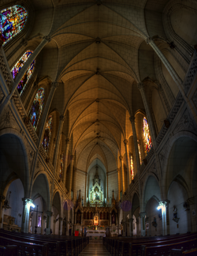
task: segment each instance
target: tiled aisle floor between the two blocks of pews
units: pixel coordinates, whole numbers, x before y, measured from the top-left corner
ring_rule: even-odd
[[[102,245],[102,243],[89,243],[87,247],[80,253],[80,256],[86,255],[102,255],[102,256],[110,256],[106,247]]]

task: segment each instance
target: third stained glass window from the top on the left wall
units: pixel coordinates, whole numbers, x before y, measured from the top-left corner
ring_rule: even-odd
[[[35,95],[32,108],[29,111],[29,118],[35,130],[37,129],[37,126],[39,124],[39,119],[43,111],[43,103],[44,103],[44,89],[39,88],[39,91]]]

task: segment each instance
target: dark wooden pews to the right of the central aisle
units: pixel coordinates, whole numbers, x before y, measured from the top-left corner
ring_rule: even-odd
[[[106,237],[102,243],[113,256],[197,255],[197,233],[138,238]]]

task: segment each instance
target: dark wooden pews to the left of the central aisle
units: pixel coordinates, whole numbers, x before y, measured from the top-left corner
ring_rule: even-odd
[[[88,237],[35,235],[0,229],[0,256],[77,256]]]

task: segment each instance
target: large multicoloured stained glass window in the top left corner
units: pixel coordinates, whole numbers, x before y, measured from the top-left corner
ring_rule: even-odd
[[[24,28],[28,13],[22,6],[12,6],[2,9],[0,19],[0,39],[4,45]]]

